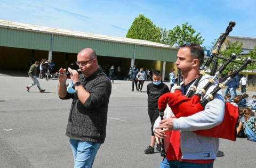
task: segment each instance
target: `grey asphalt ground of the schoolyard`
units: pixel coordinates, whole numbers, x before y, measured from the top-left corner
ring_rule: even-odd
[[[39,79],[45,93],[27,74],[0,71],[0,167],[73,167],[65,136],[71,100],[60,100],[57,79]],[[150,145],[146,88],[131,91],[131,81],[116,80],[109,101],[107,138],[93,167],[159,167],[159,152],[143,152]],[[169,86],[169,83],[166,83]],[[247,93],[249,98],[255,93]],[[256,143],[246,138],[220,139],[214,167],[255,167]]]

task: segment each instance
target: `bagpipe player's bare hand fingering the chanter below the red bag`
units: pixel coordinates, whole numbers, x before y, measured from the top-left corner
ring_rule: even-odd
[[[172,131],[173,130],[173,118],[170,117],[168,119],[164,119],[164,120],[161,120],[159,122],[159,125],[156,127],[155,129],[155,136],[157,138],[162,138],[162,139],[165,139],[167,136],[166,136],[166,131]]]

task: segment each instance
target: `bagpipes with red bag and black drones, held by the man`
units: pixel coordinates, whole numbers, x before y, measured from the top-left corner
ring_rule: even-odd
[[[226,33],[224,33],[220,39],[218,40],[219,43],[217,44],[217,47],[212,51],[211,57],[207,60],[206,64],[203,67],[203,70],[206,71],[208,66],[210,66],[212,60],[214,57],[217,57],[219,53],[220,46],[223,44],[223,41],[226,39],[226,36],[228,33],[232,30],[232,28],[235,26],[235,22],[230,22],[229,26],[226,29]],[[218,57],[220,58],[220,57]],[[214,80],[217,79],[219,74],[225,70],[226,66],[230,62],[233,61],[236,58],[235,54],[231,54],[230,58],[227,60],[227,62],[221,66],[221,68],[218,70],[218,72],[215,73],[214,77],[209,79],[209,82],[206,84],[206,86],[203,87],[203,89],[200,89],[197,94],[194,95],[197,85],[199,81],[202,79],[203,75],[205,74],[204,71],[200,71],[198,78],[195,80],[194,85],[190,87],[190,90],[188,91],[187,96],[182,95],[181,87],[180,87],[180,80],[178,79],[178,86],[175,89],[174,93],[167,93],[159,97],[158,99],[158,109],[159,109],[159,115],[163,115],[163,112],[166,108],[166,104],[168,104],[175,115],[176,118],[183,117],[183,116],[190,116],[193,114],[196,114],[198,112],[201,112],[204,110],[204,107],[207,103],[209,103],[214,96],[218,93],[218,91],[221,88],[224,88],[226,83],[228,81],[231,81],[239,73],[239,71],[246,68],[247,64],[251,63],[251,59],[247,58],[245,62],[242,64],[242,66],[236,70],[235,72],[231,73],[226,81],[223,83],[219,83],[218,86],[216,86],[209,95],[205,96],[202,100],[201,97],[205,94],[205,90],[207,90],[212,83],[214,83]],[[216,66],[217,67],[217,66]],[[179,73],[178,73],[179,76]],[[194,95],[194,96],[193,96]],[[207,136],[207,137],[215,137],[215,138],[225,138],[229,140],[236,140],[236,130],[235,130],[235,124],[238,119],[238,112],[237,107],[236,111],[234,111],[233,105],[227,104],[225,105],[225,115],[223,118],[223,121],[221,124],[207,130],[197,130],[193,131],[201,136]],[[161,116],[161,119],[163,117]],[[164,147],[165,145],[163,145]],[[165,152],[165,149],[163,149],[163,152]],[[161,156],[165,156],[165,154],[162,154],[161,150]]]

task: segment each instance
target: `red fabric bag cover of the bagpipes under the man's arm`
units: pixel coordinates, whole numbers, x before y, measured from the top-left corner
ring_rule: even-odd
[[[158,108],[159,110],[165,110],[167,104],[171,107],[171,110],[176,118],[181,116],[190,116],[195,113],[204,110],[204,107],[199,103],[200,99],[194,95],[191,98],[187,98],[182,95],[181,90],[175,90],[174,93],[166,93],[159,97]],[[167,104],[166,104],[167,103]],[[236,140],[236,122],[238,120],[238,108],[230,103],[225,104],[225,115],[223,121],[211,128],[206,130],[193,131],[197,135],[223,138],[228,140]]]

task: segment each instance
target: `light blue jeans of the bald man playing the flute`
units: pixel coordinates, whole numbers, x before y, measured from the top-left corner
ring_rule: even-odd
[[[101,144],[74,139],[69,139],[69,142],[74,156],[74,168],[92,167],[94,158]]]

